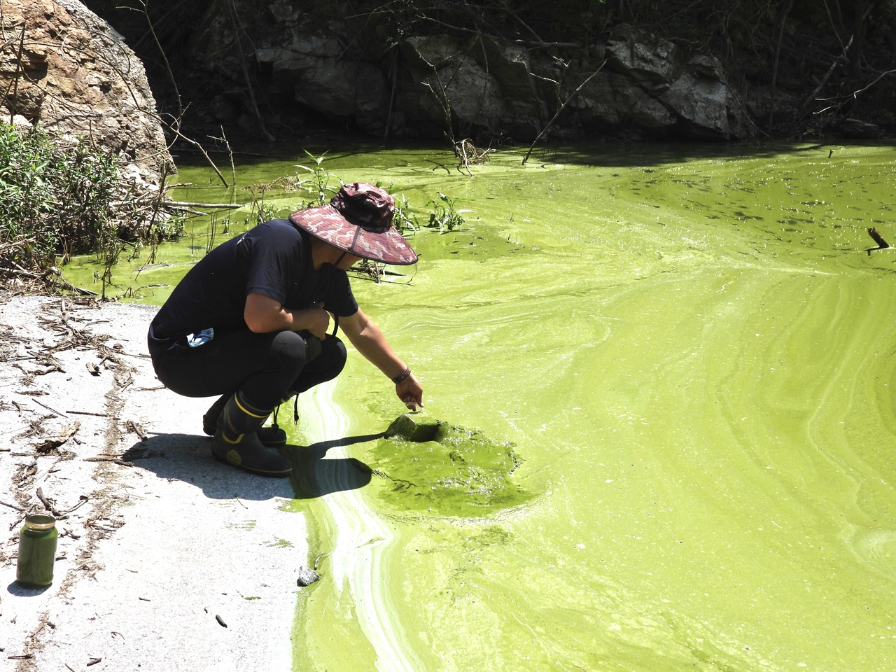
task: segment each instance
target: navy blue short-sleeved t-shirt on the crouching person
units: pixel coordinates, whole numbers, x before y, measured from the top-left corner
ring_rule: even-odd
[[[289,220],[271,220],[213,249],[186,273],[152,320],[151,354],[185,348],[187,334],[248,330],[246,296],[263,294],[301,310],[323,301],[332,314],[358,311],[349,276],[332,264],[314,270],[311,235]]]

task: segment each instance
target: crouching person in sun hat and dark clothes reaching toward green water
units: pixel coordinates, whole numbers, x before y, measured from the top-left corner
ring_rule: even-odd
[[[352,295],[361,259],[417,262],[392,227],[392,196],[343,185],[328,205],[271,220],[213,249],[186,273],[148,335],[159,380],[186,397],[219,396],[202,418],[211,453],[254,474],[289,476],[286,433],[263,426],[282,401],[332,380],[352,345],[392,379],[410,408],[423,389]]]

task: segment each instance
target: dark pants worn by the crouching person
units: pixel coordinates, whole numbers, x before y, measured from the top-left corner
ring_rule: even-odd
[[[152,366],[169,390],[185,397],[241,390],[246,401],[272,409],[335,378],[345,360],[345,345],[335,336],[317,340],[307,332],[246,331],[216,334],[199,348],[153,355]]]

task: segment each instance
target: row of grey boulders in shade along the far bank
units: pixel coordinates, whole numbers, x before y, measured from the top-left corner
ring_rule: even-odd
[[[625,25],[616,27],[601,65],[595,49],[564,61],[485,36],[461,43],[409,35],[385,50],[352,39],[357,29],[345,21],[322,28],[296,13],[278,15],[279,30],[259,34],[254,53],[271,73],[271,89],[291,89],[303,108],[370,134],[432,136],[451,119],[461,133],[530,142],[567,99],[550,129],[557,137],[737,140],[751,133],[750,113],[718,59]]]

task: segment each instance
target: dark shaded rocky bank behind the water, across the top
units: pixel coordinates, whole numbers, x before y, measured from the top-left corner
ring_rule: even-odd
[[[148,49],[148,64],[156,59],[141,13],[118,0],[82,2]],[[841,129],[844,115],[882,133],[896,118],[892,78],[874,79],[854,101],[844,97],[848,69],[836,69],[849,56],[889,72],[892,30],[879,53],[881,34],[874,53],[854,46],[841,54],[833,20],[806,3],[788,14],[762,3],[718,13],[711,3],[642,3],[634,11],[592,2],[581,23],[572,4],[557,5],[556,17],[539,9],[548,3],[523,5],[195,0],[147,8],[171,63],[180,64],[178,81],[193,94],[185,123],[198,134],[223,125],[285,139],[316,134],[314,122],[323,120],[376,137],[435,139],[450,128],[459,138],[530,142],[547,129],[547,137],[568,140],[724,141],[866,136],[874,130]],[[151,76],[178,114],[168,73],[153,67]]]

